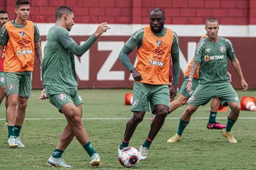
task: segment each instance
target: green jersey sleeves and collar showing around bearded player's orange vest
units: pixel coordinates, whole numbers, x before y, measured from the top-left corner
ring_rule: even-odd
[[[154,32],[153,32],[154,33]],[[154,33],[157,37],[163,37],[166,34],[166,28],[164,27],[162,32]],[[133,35],[127,40],[125,43],[125,46],[134,49],[135,47],[138,47],[138,49],[142,46],[142,40],[143,40],[144,30],[143,28],[135,31]],[[171,40],[170,40],[171,41]],[[171,48],[171,54],[179,53],[179,38],[177,33],[173,32],[173,43]]]

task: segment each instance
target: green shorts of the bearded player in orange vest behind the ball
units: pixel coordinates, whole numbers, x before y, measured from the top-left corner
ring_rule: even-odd
[[[157,104],[169,107],[169,86],[134,82],[131,111],[149,112],[148,103],[150,103],[150,108],[153,114],[155,114],[155,105]]]

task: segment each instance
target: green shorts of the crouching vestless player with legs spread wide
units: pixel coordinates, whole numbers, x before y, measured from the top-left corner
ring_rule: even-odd
[[[199,84],[194,94],[189,98],[189,105],[205,105],[213,97],[218,97],[222,106],[228,106],[227,103],[239,103],[236,91],[230,82],[225,82],[219,83],[217,86]]]

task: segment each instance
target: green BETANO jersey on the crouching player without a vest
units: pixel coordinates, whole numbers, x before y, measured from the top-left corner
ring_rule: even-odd
[[[234,47],[230,40],[219,37],[217,43],[204,38],[196,47],[194,61],[200,63],[199,84],[214,85],[229,81],[228,61],[235,60]]]

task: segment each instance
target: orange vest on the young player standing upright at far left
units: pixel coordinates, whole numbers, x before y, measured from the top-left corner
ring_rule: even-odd
[[[27,20],[25,27],[17,28],[9,21],[5,27],[9,41],[5,48],[4,72],[33,71],[34,23]]]

